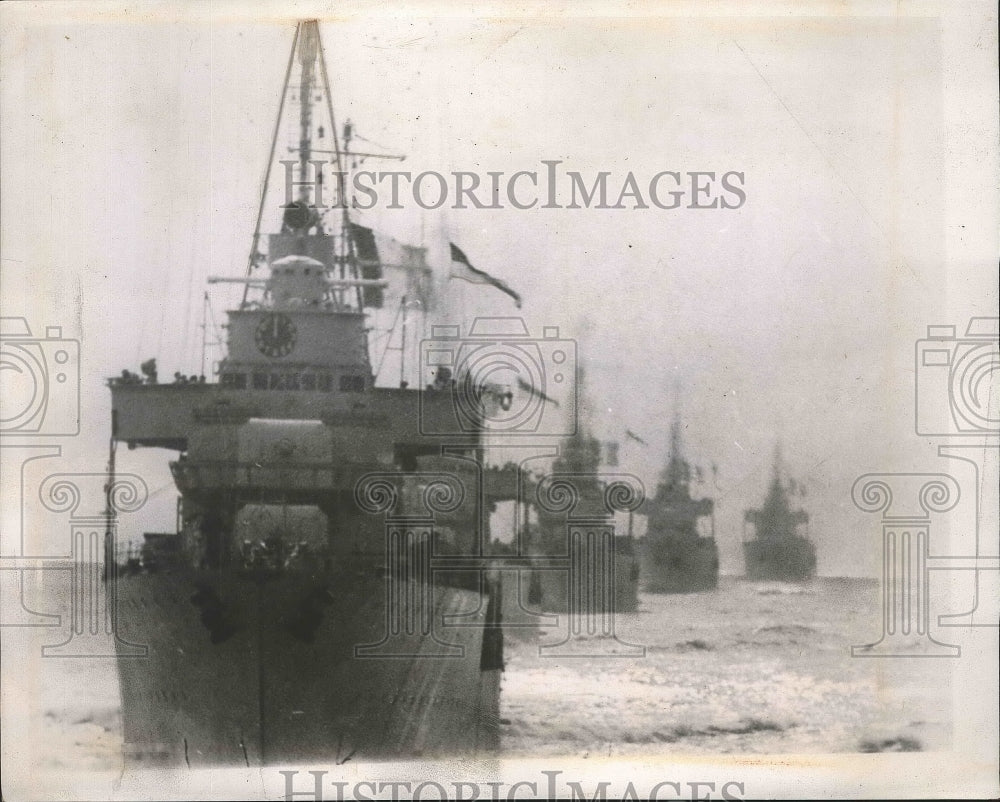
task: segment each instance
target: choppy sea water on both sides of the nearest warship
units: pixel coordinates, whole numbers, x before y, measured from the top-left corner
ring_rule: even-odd
[[[114,658],[42,657],[42,646],[68,636],[69,572],[27,572],[23,588],[16,573],[4,572],[5,623],[22,605],[62,619],[59,626],[0,630],[6,759],[26,761],[38,776],[118,771]],[[851,656],[852,645],[878,640],[880,604],[876,580],[723,577],[713,592],[640,594],[637,612],[617,615],[614,638],[624,651],[641,646],[638,655],[540,654],[540,646],[565,637],[565,618],[511,631],[502,751],[669,760],[947,749],[954,661]]]

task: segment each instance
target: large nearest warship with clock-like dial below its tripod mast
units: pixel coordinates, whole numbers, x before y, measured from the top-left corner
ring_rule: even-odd
[[[315,21],[296,27],[272,162],[289,117],[302,194],[265,237],[265,177],[247,275],[223,279],[243,300],[217,380],[160,382],[154,358],[108,382],[112,479],[119,444],[165,449],[179,494],[177,531],[107,577],[130,765],[498,746],[498,572],[448,562],[482,553],[483,508],[516,488],[484,470],[491,395],[457,417],[444,377],[375,384],[366,316],[389,266],[348,204],[328,222],[308,194],[317,153],[342,174],[357,156]]]

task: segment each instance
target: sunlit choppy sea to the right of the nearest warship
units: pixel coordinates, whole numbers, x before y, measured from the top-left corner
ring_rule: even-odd
[[[504,749],[669,755],[947,749],[947,659],[861,658],[879,639],[876,580],[722,577],[715,591],[640,593],[615,637],[641,657],[560,658],[511,637]],[[553,630],[542,642],[556,642]],[[611,651],[611,650],[609,650]],[[624,650],[623,650],[624,651]]]

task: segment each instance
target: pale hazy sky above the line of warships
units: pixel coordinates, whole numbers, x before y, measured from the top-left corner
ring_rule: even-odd
[[[84,431],[60,469],[103,469],[102,377],[150,356],[200,372],[205,278],[245,266],[294,23],[199,13],[5,30],[4,314],[82,343]],[[402,169],[744,174],[738,210],[362,219],[438,268],[459,243],[523,295],[532,331],[576,338],[587,423],[650,491],[680,404],[688,455],[719,468],[723,571],[741,570],[780,439],[820,572],[874,573],[854,479],[942,468],[914,434],[914,343],[996,314],[996,87],[975,61],[995,53],[957,60],[934,17],[344,16],[321,26],[335,110]],[[236,295],[211,297],[221,323]],[[468,286],[447,308],[517,313]],[[159,491],[157,527],[168,456],[119,462]]]

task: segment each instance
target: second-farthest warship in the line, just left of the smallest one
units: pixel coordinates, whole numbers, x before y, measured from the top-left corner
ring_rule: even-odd
[[[649,593],[691,593],[711,590],[719,581],[719,550],[715,544],[715,502],[693,498],[691,465],[681,454],[681,423],[670,428],[670,457],[656,495],[646,502],[646,537],[642,549],[643,590]],[[708,519],[710,534],[699,531]]]

